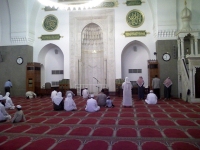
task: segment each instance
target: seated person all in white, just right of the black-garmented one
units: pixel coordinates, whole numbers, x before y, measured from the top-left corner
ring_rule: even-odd
[[[66,92],[67,94],[67,92]],[[65,101],[64,101],[64,109],[66,111],[72,111],[72,110],[76,110],[76,104],[74,102],[74,100],[72,99],[72,94],[69,93],[67,94],[67,97],[65,98]]]

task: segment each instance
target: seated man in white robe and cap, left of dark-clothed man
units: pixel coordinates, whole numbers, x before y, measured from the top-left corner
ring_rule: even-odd
[[[85,110],[88,112],[96,112],[99,109],[100,107],[97,105],[97,101],[94,99],[94,95],[92,94],[90,99],[87,100]]]

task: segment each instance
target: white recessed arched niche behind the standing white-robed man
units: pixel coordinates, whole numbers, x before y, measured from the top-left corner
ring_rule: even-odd
[[[150,59],[150,53],[147,46],[140,41],[132,41],[123,49],[121,59],[122,78],[129,77],[135,84],[139,76],[142,76],[145,86],[148,86],[147,60]]]

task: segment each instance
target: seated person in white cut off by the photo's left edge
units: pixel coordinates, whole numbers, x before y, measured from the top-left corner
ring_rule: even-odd
[[[11,119],[11,116],[6,112],[3,103],[5,103],[5,98],[3,98],[2,95],[0,95],[0,121],[6,121],[8,119]]]

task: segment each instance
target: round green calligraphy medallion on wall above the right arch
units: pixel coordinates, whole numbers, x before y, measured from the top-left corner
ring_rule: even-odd
[[[136,10],[136,9],[131,10],[126,15],[126,22],[128,23],[129,26],[131,26],[133,28],[137,28],[143,24],[144,15],[139,10]]]

